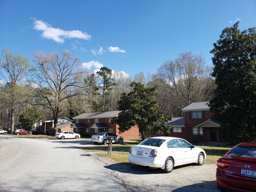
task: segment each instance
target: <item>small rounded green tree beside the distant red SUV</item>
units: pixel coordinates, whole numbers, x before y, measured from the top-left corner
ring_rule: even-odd
[[[45,119],[41,111],[38,107],[32,106],[32,107],[26,107],[24,111],[20,114],[20,125],[24,128],[28,128],[32,130],[32,128],[35,127],[35,123],[40,122],[40,120]]]

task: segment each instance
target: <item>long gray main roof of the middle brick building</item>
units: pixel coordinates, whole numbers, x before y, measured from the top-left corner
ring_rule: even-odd
[[[117,116],[121,111],[101,111],[94,113],[83,113],[73,119],[95,119],[95,118],[113,118]]]

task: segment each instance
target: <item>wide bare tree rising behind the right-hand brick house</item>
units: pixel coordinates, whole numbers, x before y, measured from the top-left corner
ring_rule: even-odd
[[[179,54],[175,61],[166,61],[158,68],[158,74],[167,82],[165,85],[171,94],[178,99],[180,109],[191,102],[207,98],[207,93],[214,84],[209,68],[205,68],[204,57],[191,52]]]

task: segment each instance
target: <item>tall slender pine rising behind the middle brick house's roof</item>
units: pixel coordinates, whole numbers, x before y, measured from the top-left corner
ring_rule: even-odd
[[[106,95],[109,94],[108,90],[111,90],[111,87],[115,84],[113,83],[113,79],[111,78],[112,70],[107,68],[106,66],[100,68],[100,71],[98,71],[97,74],[102,78],[100,82],[100,90],[102,91],[102,111],[104,111],[106,104]]]

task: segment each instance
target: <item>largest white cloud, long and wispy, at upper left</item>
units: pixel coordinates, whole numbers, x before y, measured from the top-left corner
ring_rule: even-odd
[[[90,40],[91,35],[79,30],[65,31],[59,28],[53,28],[50,24],[43,22],[41,20],[34,21],[34,29],[37,31],[43,31],[41,36],[46,39],[52,39],[56,42],[63,43],[64,39],[84,39]]]

